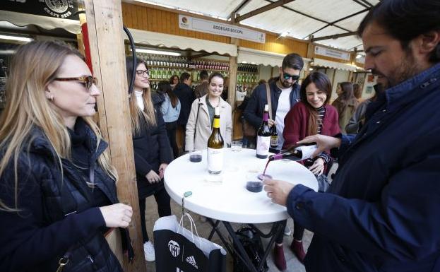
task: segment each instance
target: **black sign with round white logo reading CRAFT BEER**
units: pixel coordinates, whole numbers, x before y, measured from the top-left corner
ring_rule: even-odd
[[[74,0],[1,0],[0,10],[52,18],[79,20],[78,1]]]

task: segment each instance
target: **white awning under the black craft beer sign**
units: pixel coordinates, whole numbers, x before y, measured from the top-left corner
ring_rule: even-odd
[[[1,11],[0,20],[6,20],[18,26],[37,25],[40,28],[51,30],[54,28],[63,28],[73,34],[81,33],[79,20],[50,18],[47,16],[38,16],[28,13],[18,13],[13,11]]]

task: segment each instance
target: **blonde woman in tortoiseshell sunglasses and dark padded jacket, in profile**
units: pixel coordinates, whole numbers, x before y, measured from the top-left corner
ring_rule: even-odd
[[[127,227],[132,210],[118,203],[90,118],[95,83],[61,43],[30,42],[13,57],[0,119],[1,271],[57,271],[60,261],[64,271],[122,271],[103,234]]]

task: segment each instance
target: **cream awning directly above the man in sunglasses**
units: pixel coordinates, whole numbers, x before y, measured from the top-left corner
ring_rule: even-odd
[[[262,64],[269,66],[281,66],[286,54],[261,51],[246,47],[239,47],[237,63],[246,62],[248,64]],[[304,62],[310,59],[303,58]]]

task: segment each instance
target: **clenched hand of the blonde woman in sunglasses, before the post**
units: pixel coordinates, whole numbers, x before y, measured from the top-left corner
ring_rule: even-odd
[[[128,227],[131,222],[133,209],[123,203],[100,207],[106,227]]]

